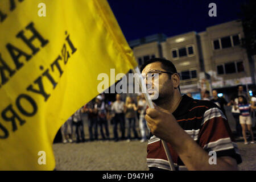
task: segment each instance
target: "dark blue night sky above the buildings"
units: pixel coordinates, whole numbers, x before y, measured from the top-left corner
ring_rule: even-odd
[[[239,18],[245,0],[108,0],[127,41],[163,33],[167,37]],[[217,17],[210,17],[209,3],[216,3]]]

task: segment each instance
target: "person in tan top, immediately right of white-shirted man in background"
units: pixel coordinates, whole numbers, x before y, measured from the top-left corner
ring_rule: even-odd
[[[136,131],[136,105],[133,102],[131,97],[126,97],[125,101],[125,118],[127,119],[128,123],[128,135],[127,135],[127,142],[131,140],[131,130],[133,130],[134,138],[138,139],[138,134]]]

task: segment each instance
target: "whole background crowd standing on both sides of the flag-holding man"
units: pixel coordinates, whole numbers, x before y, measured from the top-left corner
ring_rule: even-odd
[[[192,97],[191,93],[187,96]],[[109,123],[113,126],[113,138],[116,142],[118,140],[141,139],[141,142],[146,142],[150,135],[147,122],[145,120],[146,100],[143,94],[134,97],[127,96],[125,102],[122,101],[121,95],[116,94],[114,102],[105,102],[104,94],[98,95],[85,106],[77,110],[67,122],[61,126],[61,135],[63,143],[85,142],[84,122],[82,121],[82,114],[87,115],[89,141],[98,140],[98,128],[100,128],[100,135],[102,140],[110,140]],[[230,98],[227,102],[224,97],[218,97],[217,90],[210,92],[206,90],[203,93],[202,100],[214,102],[224,115],[226,111],[224,106],[232,106],[232,115],[236,121],[236,135],[240,139],[244,139],[245,144],[249,144],[246,138],[246,131],[251,135],[251,142],[254,143],[252,118],[255,118],[256,97],[250,97],[249,94],[243,91],[243,86],[238,86],[237,94]],[[250,104],[251,103],[251,104]],[[137,122],[139,122],[139,133],[137,130]],[[119,130],[118,130],[119,126]],[[255,127],[255,126],[254,126]],[[119,131],[119,132],[118,132]],[[119,136],[119,134],[121,136]],[[133,134],[133,138],[132,138]]]

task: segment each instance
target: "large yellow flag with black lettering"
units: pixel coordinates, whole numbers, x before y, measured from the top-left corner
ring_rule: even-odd
[[[0,169],[54,169],[57,130],[98,74],[136,66],[105,0],[0,1]]]

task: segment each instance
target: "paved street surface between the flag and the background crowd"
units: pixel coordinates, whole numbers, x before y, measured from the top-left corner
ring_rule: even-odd
[[[228,118],[230,117],[232,115],[228,115]],[[84,119],[86,121],[86,118]],[[229,123],[234,130],[232,118]],[[109,125],[109,128],[110,137],[113,138],[112,125]],[[85,135],[88,139],[86,122]],[[242,140],[237,144],[243,159],[243,163],[239,165],[240,170],[256,170],[256,144],[244,145]],[[148,170],[146,147],[147,142],[140,143],[139,140],[53,144],[57,170]]]

